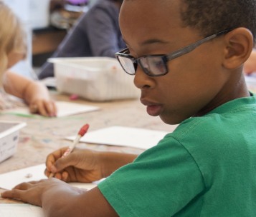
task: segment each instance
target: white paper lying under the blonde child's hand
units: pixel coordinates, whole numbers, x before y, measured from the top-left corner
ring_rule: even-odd
[[[55,101],[57,106],[57,117],[70,116],[77,113],[85,113],[90,111],[97,111],[100,108],[98,106],[88,106],[84,104],[70,103],[67,101]],[[33,115],[29,112],[29,107],[19,107],[15,109],[8,109],[1,113],[14,113],[19,115]]]

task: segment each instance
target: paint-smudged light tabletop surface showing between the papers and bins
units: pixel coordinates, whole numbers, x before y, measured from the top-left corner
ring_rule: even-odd
[[[68,96],[57,94],[56,91],[51,91],[51,94],[56,100],[69,100]],[[17,152],[11,158],[0,163],[0,173],[44,163],[49,153],[63,146],[69,146],[71,141],[65,140],[65,136],[75,135],[85,123],[90,123],[90,131],[108,126],[131,126],[161,131],[173,131],[175,128],[175,126],[163,123],[159,117],[149,116],[146,113],[146,107],[138,99],[108,102],[91,102],[78,99],[73,102],[99,106],[100,111],[62,118],[31,118],[1,114],[0,121],[24,121],[27,122],[27,126],[20,130]],[[120,146],[87,143],[80,143],[79,146],[98,151],[138,154],[143,152],[141,149]]]

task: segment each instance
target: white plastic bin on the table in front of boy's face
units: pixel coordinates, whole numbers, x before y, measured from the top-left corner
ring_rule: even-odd
[[[118,60],[110,57],[54,58],[57,91],[90,101],[134,99],[140,91]]]

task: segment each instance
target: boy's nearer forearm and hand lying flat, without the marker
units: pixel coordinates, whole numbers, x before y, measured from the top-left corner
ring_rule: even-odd
[[[57,178],[22,183],[11,191],[1,193],[1,196],[42,206],[47,217],[118,216],[98,187],[85,191]]]

